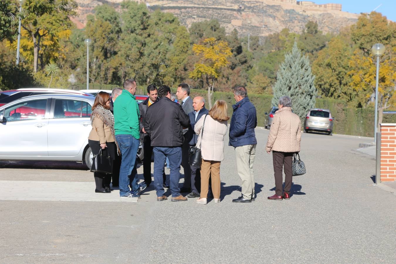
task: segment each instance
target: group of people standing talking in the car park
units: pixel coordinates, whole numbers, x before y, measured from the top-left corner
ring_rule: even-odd
[[[117,186],[117,183],[119,185],[120,197],[139,197],[140,193],[150,186],[152,183],[151,154],[154,153],[153,175],[157,201],[168,199],[165,196],[165,188],[169,188],[171,201],[187,201],[188,197],[198,198],[197,203],[206,204],[210,192],[209,186],[211,186],[213,200],[219,203],[220,164],[224,159],[224,139],[229,120],[227,103],[217,100],[208,110],[203,97],[191,98],[189,86],[180,84],[176,93],[179,103],[175,102],[175,96],[171,94],[167,85],[162,85],[158,89],[154,85],[148,85],[148,98],[138,105],[135,100],[137,87],[135,80],[126,80],[123,87],[124,89],[114,89],[111,98],[108,93],[98,93],[92,106],[92,131],[88,138],[89,146],[94,154],[99,152],[100,148],[108,148],[115,164],[120,162],[119,169],[113,166],[112,180],[112,186]],[[296,129],[301,123],[295,119],[297,117],[299,120],[298,116],[291,112],[291,100],[289,97],[286,98],[287,100],[285,98],[281,98],[284,105],[280,100],[279,112],[281,114],[275,115],[280,119],[274,118],[267,142],[267,152],[274,150],[276,179],[276,194],[268,199],[289,198],[291,160],[287,152],[288,150],[298,152],[301,140],[301,134]],[[253,163],[257,146],[254,130],[257,126],[256,109],[249,101],[245,87],[240,86],[234,89],[234,99],[236,104],[232,106],[229,145],[235,148],[237,171],[242,180],[242,195],[233,199],[232,202],[249,203],[255,200]],[[290,114],[295,116],[290,116]],[[295,125],[290,125],[291,122]],[[290,130],[288,136],[284,133],[285,129]],[[287,145],[287,141],[293,135],[295,135],[293,147],[284,151],[283,145]],[[137,184],[136,175],[139,140],[143,141],[144,151],[144,182],[141,184]],[[201,150],[200,166],[190,165],[188,160],[188,150],[195,146]],[[169,186],[166,184],[165,163],[170,169]],[[286,173],[284,189],[282,186],[283,164]],[[179,188],[181,166],[184,170],[184,184],[182,188]],[[111,192],[111,175],[94,173],[94,176],[95,192]],[[181,193],[188,193],[187,197]]]

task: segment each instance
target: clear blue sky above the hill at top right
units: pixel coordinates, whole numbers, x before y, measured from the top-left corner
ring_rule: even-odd
[[[370,13],[377,6],[382,4],[377,8],[377,12],[385,15],[387,19],[396,22],[396,0],[310,0],[316,4],[327,4],[335,3],[342,4],[343,11],[349,13]]]

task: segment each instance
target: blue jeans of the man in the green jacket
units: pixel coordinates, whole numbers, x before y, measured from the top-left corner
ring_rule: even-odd
[[[139,139],[132,135],[116,135],[118,146],[121,150],[121,167],[120,167],[120,196],[129,195],[129,184],[132,193],[136,194],[139,186],[137,185],[136,170],[136,153],[139,148]]]

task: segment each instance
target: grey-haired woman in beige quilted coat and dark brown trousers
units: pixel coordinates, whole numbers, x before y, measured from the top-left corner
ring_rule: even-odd
[[[299,116],[291,112],[291,99],[282,96],[279,99],[279,110],[272,120],[267,141],[267,153],[272,151],[274,163],[275,194],[270,200],[290,199],[292,181],[291,161],[293,154],[300,151],[301,121]],[[282,167],[285,171],[285,188],[282,188]]]

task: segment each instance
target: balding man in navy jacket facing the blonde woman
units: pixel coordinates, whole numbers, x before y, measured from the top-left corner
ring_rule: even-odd
[[[194,111],[188,113],[190,118],[190,126],[188,127],[188,137],[190,141],[188,142],[190,146],[195,146],[198,141],[198,135],[194,132],[194,126],[198,120],[204,115],[208,114],[208,109],[205,108],[204,97],[197,96],[192,100],[192,107]],[[190,165],[191,168],[191,193],[187,194],[188,198],[200,197],[201,192],[201,173],[200,167]]]

